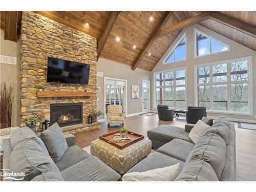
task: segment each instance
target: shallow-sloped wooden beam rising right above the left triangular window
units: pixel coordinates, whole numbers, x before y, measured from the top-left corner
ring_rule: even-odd
[[[155,39],[156,38],[160,38],[162,36],[168,35],[168,34],[173,33],[175,31],[179,31],[179,30],[184,29],[186,27],[189,27],[191,25],[200,23],[203,20],[206,20],[206,19],[210,18],[210,15],[212,13],[214,13],[214,12],[213,11],[205,11],[205,12],[203,12],[201,14],[198,14],[198,15],[196,15],[194,17],[190,17],[190,18],[188,18],[186,20],[183,20],[182,22],[179,22],[179,23],[173,25],[172,27],[169,27],[169,28],[166,28],[166,29],[164,29],[162,31],[159,31],[158,33],[156,33],[154,35],[153,38],[155,38]]]

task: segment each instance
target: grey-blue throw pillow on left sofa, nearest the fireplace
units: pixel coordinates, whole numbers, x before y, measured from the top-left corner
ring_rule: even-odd
[[[68,148],[67,141],[57,123],[54,123],[46,131],[41,132],[41,139],[44,141],[49,155],[53,161],[58,162]]]

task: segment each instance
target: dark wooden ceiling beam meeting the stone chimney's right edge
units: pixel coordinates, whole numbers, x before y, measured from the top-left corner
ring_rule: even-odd
[[[115,21],[116,21],[119,13],[120,13],[120,11],[112,11],[110,13],[108,21],[106,22],[106,24],[104,26],[104,30],[99,37],[98,48],[97,48],[97,60],[99,59],[101,51],[103,50],[103,47],[105,45],[106,39],[108,39],[110,32],[115,24]]]

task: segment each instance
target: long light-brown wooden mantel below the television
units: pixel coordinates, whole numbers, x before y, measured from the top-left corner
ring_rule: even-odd
[[[37,97],[91,97],[93,92],[77,91],[37,91]]]

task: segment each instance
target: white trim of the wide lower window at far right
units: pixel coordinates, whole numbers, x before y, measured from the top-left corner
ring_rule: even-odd
[[[221,60],[221,61],[216,61],[216,62],[209,62],[209,63],[204,63],[201,65],[196,65],[194,66],[194,93],[195,93],[195,101],[194,101],[194,105],[198,106],[197,104],[197,99],[198,99],[198,93],[197,93],[197,68],[198,67],[203,67],[203,66],[214,66],[214,65],[218,65],[220,63],[225,63],[225,62],[233,62],[233,61],[239,61],[239,60],[248,60],[248,84],[249,84],[249,93],[248,93],[248,113],[243,113],[243,112],[232,112],[232,111],[217,111],[217,110],[207,110],[207,112],[209,113],[223,113],[223,114],[232,114],[232,115],[244,115],[244,116],[253,116],[253,81],[252,81],[252,56],[247,56],[247,57],[239,57],[239,58],[233,58],[233,59],[228,59],[228,60]],[[211,69],[211,68],[210,68]],[[212,75],[212,72],[210,71],[209,73],[210,75]],[[242,81],[241,81],[242,82]],[[212,82],[210,82],[212,83]],[[200,83],[201,84],[201,83]],[[218,83],[218,84],[222,84],[222,82]],[[227,82],[223,82],[223,84],[231,84],[231,80],[227,79]],[[202,83],[203,86],[203,83]],[[211,90],[211,89],[210,89]],[[228,96],[228,90],[227,90],[227,96]],[[212,97],[212,93],[210,93],[210,97]],[[227,97],[228,100],[229,97]],[[210,98],[212,100],[212,98]],[[211,103],[211,102],[210,102]],[[210,109],[211,106],[210,106]]]

